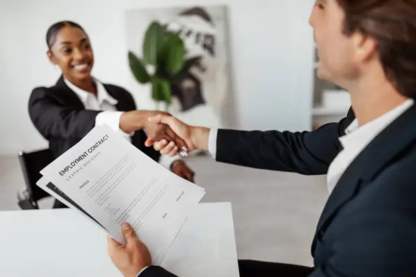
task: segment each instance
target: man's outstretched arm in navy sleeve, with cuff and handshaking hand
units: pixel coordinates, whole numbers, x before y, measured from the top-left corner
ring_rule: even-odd
[[[172,116],[159,115],[150,120],[169,125],[184,139],[190,151],[209,150],[220,162],[303,175],[323,175],[340,152],[338,138],[345,134],[345,128],[354,120],[354,113],[350,109],[347,117],[339,123],[330,123],[312,132],[219,129],[216,139],[213,139],[216,129],[210,131],[204,127],[189,126]],[[160,142],[150,141],[149,144],[153,144],[155,150],[162,154],[171,150]]]

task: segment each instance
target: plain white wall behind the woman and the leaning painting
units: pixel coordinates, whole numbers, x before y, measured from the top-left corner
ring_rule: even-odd
[[[46,145],[27,112],[34,87],[51,85],[60,72],[46,58],[45,33],[55,21],[81,24],[96,55],[94,75],[126,89],[124,11],[185,5],[229,6],[232,75],[243,129],[311,127],[313,0],[0,0],[0,154]],[[143,93],[143,91],[131,91]],[[148,108],[138,103],[140,108]],[[235,126],[237,127],[237,125]]]

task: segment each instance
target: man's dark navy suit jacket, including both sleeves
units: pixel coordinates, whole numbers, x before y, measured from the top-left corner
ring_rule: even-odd
[[[217,161],[251,168],[327,174],[354,120],[313,132],[221,129]],[[338,181],[312,243],[309,277],[416,276],[416,105],[367,145]],[[150,267],[143,277],[173,276]],[[142,277],[142,276],[140,276]]]

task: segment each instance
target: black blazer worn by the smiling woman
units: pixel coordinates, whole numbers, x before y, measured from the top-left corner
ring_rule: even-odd
[[[136,109],[135,100],[128,91],[112,84],[104,84],[107,92],[119,101],[119,111]],[[55,158],[69,150],[94,128],[97,114],[101,111],[85,109],[76,93],[69,89],[62,76],[53,87],[33,89],[28,103],[29,115],[36,129],[49,141],[49,148]],[[144,145],[146,134],[135,132],[132,144],[155,161],[159,152]]]

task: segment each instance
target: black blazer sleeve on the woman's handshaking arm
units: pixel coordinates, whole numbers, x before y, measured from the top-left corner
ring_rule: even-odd
[[[94,128],[101,111],[65,107],[53,96],[52,89],[36,88],[29,99],[29,115],[45,139],[56,137],[82,139]]]

